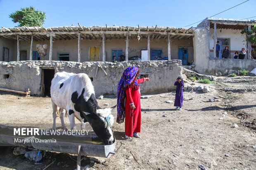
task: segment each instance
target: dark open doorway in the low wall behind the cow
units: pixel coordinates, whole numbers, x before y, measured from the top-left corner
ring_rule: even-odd
[[[41,74],[41,96],[51,97],[51,84],[54,77],[54,68],[42,68]]]

